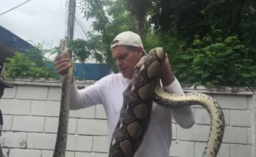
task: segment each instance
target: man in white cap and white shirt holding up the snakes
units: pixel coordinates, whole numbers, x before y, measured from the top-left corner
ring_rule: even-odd
[[[78,110],[103,104],[108,119],[109,145],[123,105],[123,91],[133,77],[135,65],[145,54],[141,38],[131,31],[117,35],[110,48],[120,73],[107,75],[82,90],[78,90],[73,82],[70,106],[71,110]],[[60,74],[64,74],[71,65],[65,55],[55,58],[55,67]],[[168,57],[161,65],[160,79],[166,91],[183,93],[178,80],[171,72]],[[190,128],[194,124],[191,107],[174,110],[153,102],[151,122],[135,157],[169,157],[172,117],[182,128]]]

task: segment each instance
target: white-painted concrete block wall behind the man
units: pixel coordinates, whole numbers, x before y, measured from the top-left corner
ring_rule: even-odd
[[[0,100],[4,125],[1,146],[6,157],[52,157],[59,117],[59,82],[9,80]],[[78,83],[88,86],[89,83]],[[225,134],[218,157],[254,157],[254,92],[230,93],[183,88],[203,92],[221,104]],[[209,116],[194,106],[196,124],[183,129],[174,121],[171,157],[201,157],[209,133]],[[101,104],[70,111],[66,157],[107,157],[107,119]]]

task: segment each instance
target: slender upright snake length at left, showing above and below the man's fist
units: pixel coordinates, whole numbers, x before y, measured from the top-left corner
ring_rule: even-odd
[[[67,41],[62,39],[59,45],[59,54],[69,56]],[[69,68],[62,79],[62,95],[59,111],[59,124],[53,157],[65,157],[68,137],[70,87],[73,78],[73,70]]]

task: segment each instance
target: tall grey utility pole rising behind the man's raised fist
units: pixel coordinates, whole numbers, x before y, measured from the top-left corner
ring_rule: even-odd
[[[75,24],[75,0],[69,0],[69,16],[68,16],[68,40],[73,40],[74,34],[74,24]],[[69,57],[72,60],[72,50],[69,52]]]

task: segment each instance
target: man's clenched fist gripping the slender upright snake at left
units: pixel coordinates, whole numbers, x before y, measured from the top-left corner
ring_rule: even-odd
[[[54,66],[60,75],[64,75],[72,66],[72,62],[67,55],[59,54],[55,57]]]

